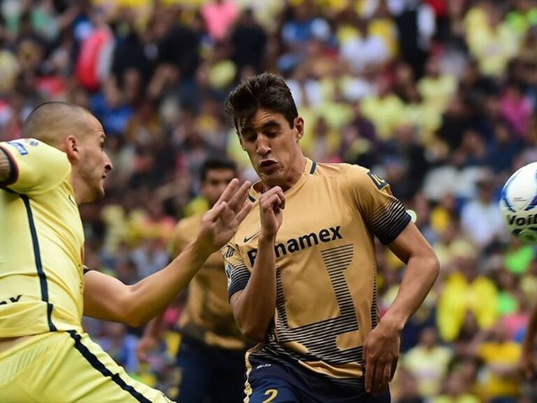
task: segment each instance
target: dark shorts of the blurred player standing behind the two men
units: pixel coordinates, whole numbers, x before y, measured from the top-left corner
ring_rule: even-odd
[[[183,337],[177,353],[178,402],[240,403],[245,381],[245,351],[227,350]]]

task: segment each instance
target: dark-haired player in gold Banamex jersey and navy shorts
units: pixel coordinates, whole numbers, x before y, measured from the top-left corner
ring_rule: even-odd
[[[248,78],[226,110],[261,179],[222,248],[234,316],[259,342],[245,402],[388,402],[399,336],[438,275],[436,255],[381,178],[303,156],[282,78]],[[373,236],[407,264],[380,320]]]

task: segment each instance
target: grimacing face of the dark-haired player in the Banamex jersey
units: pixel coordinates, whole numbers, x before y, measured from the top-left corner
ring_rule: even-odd
[[[280,113],[259,109],[239,127],[239,138],[252,167],[268,187],[292,185],[302,174],[303,157],[299,139],[303,120],[295,118],[294,127]],[[298,176],[297,176],[298,175]]]

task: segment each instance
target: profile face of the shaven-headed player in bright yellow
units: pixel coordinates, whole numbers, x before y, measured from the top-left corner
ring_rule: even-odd
[[[80,178],[90,192],[89,201],[104,197],[104,179],[112,169],[112,162],[104,151],[106,134],[99,120],[88,116],[89,132],[80,141]]]

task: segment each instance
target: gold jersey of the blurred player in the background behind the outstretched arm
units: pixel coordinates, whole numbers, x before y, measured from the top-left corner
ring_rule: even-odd
[[[178,222],[172,236],[171,253],[177,256],[198,232],[201,214]],[[190,281],[187,304],[179,320],[182,334],[208,346],[244,349],[247,344],[235,323],[227,295],[224,261],[220,253],[209,256]]]

